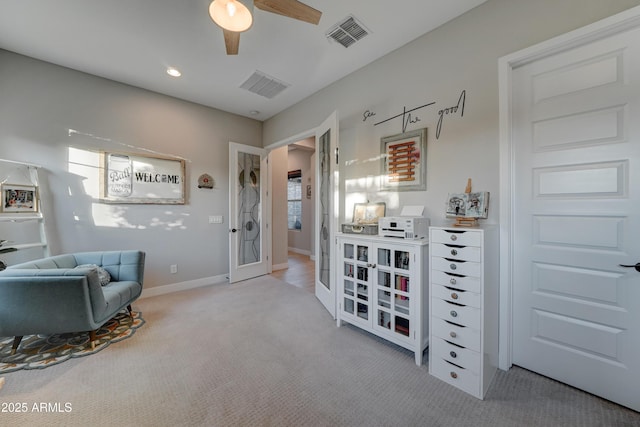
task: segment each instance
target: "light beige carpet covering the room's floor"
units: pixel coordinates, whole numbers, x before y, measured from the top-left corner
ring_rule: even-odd
[[[640,425],[634,411],[520,368],[475,399],[270,276],[138,308],[145,327],[110,351],[5,375],[0,402],[27,410],[0,413],[0,425]]]

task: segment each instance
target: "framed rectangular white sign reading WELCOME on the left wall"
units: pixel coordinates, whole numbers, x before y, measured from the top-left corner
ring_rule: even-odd
[[[111,152],[101,156],[102,201],[184,204],[184,160]]]

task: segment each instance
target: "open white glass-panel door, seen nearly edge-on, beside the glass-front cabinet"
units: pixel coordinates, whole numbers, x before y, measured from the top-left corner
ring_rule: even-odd
[[[333,253],[338,230],[338,114],[331,114],[316,129],[315,293],[336,318],[336,277]]]

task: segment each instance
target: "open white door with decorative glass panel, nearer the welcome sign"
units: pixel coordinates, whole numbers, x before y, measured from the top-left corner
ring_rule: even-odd
[[[229,282],[267,274],[267,151],[229,143]]]

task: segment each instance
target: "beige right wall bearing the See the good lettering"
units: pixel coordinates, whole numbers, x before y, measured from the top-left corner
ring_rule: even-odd
[[[638,0],[489,0],[374,63],[320,90],[264,123],[265,146],[300,134],[338,110],[341,222],[353,203],[384,201],[397,214],[423,205],[432,221],[444,220],[447,193],[491,192],[489,222],[498,220],[498,59],[640,4]],[[366,38],[363,39],[366,42]],[[354,46],[357,49],[357,45]],[[457,105],[466,91],[464,116],[439,111]],[[426,191],[380,191],[380,139],[402,132],[402,120],[374,126],[403,109],[406,130],[428,128]],[[375,116],[364,120],[366,111]]]

